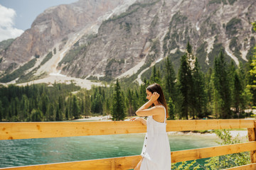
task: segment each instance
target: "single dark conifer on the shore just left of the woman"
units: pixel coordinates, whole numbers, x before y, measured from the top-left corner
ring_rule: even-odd
[[[112,120],[124,120],[124,96],[122,94],[118,79],[114,86],[114,97],[111,109]]]

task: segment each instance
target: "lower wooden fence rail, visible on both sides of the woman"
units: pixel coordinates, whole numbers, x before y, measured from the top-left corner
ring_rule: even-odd
[[[184,162],[194,159],[202,159],[208,157],[216,157],[225,154],[235,154],[238,152],[251,151],[256,148],[256,142],[246,142],[235,145],[223,145],[218,147],[206,147],[200,149],[189,149],[171,152],[171,162]],[[16,170],[32,170],[32,169],[134,169],[139,160],[142,159],[140,155],[131,157],[116,157],[110,159],[95,159],[82,162],[64,162],[57,164],[43,164],[36,166],[18,166],[2,169],[16,169]]]

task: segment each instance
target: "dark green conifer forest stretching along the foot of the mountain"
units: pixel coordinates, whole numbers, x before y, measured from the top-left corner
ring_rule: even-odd
[[[203,73],[188,42],[178,73],[166,57],[161,67],[152,67],[151,77],[140,86],[118,79],[90,91],[75,84],[1,86],[0,120],[58,121],[110,114],[112,120],[124,120],[146,102],[146,86],[154,82],[164,90],[170,119],[244,118],[249,116],[245,109],[256,106],[252,63],[252,56],[239,67],[228,63],[220,50],[213,68]]]

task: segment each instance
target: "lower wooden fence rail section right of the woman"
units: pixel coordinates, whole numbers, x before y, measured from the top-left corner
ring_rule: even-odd
[[[188,149],[171,152],[171,162],[184,162],[208,157],[217,157],[225,154],[235,154],[256,149],[256,141],[218,147],[206,147],[200,149]]]

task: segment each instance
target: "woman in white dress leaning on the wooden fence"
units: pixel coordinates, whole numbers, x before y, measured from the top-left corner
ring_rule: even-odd
[[[166,100],[159,84],[151,84],[146,88],[146,98],[149,100],[136,111],[143,118],[132,118],[146,125],[146,136],[142,149],[142,160],[134,170],[170,170],[171,150],[166,133],[166,118],[168,118]],[[149,106],[152,106],[149,108]]]

